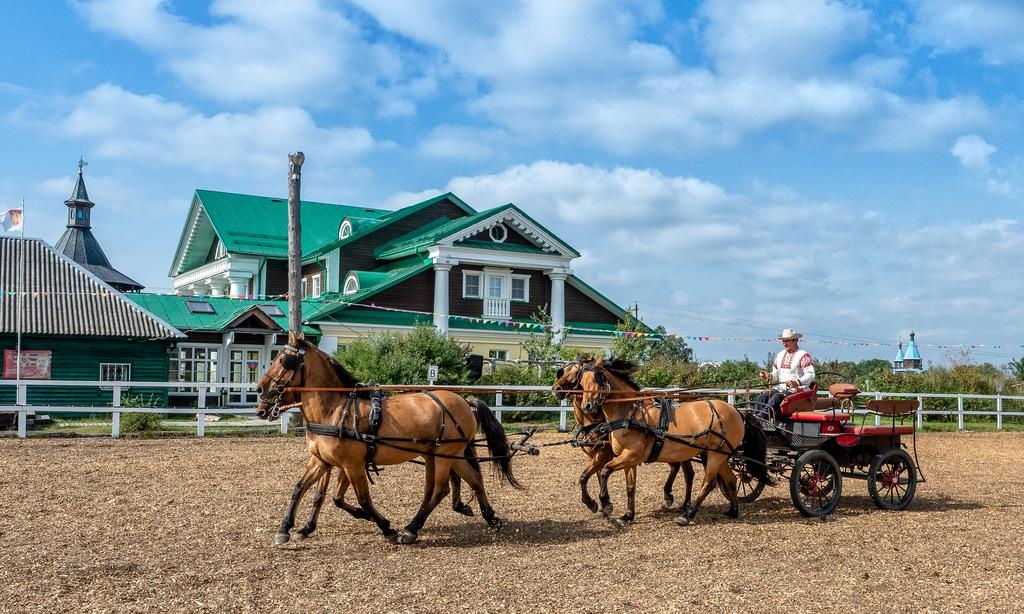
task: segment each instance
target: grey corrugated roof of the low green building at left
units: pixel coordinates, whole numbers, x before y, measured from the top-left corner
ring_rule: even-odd
[[[25,262],[22,323],[18,272]],[[39,239],[0,237],[0,333],[174,339],[184,335]]]

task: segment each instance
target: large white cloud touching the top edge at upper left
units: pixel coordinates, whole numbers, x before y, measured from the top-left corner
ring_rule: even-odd
[[[397,47],[370,42],[339,10],[315,0],[214,0],[209,25],[171,12],[163,0],[75,4],[94,30],[153,52],[196,91],[228,102],[322,106],[359,92],[384,116],[411,115],[412,96],[432,91],[429,74],[411,75]]]

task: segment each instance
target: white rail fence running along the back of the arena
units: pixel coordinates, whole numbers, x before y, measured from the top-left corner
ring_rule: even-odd
[[[47,412],[59,412],[59,413],[83,413],[83,414],[95,414],[95,413],[110,413],[111,414],[111,436],[120,437],[121,436],[121,413],[122,412],[137,412],[137,413],[162,413],[162,414],[178,414],[178,415],[196,415],[196,435],[197,437],[203,437],[206,434],[206,416],[209,415],[252,415],[255,416],[255,407],[239,406],[239,407],[207,407],[207,396],[210,395],[212,398],[217,398],[219,393],[210,393],[209,389],[227,389],[227,390],[254,390],[256,388],[255,384],[217,384],[209,382],[125,382],[123,384],[118,384],[115,382],[72,382],[72,381],[2,381],[0,380],[0,387],[3,386],[13,386],[16,389],[14,405],[0,405],[0,413],[16,413],[17,414],[17,436],[25,438],[28,436],[28,415],[29,413],[47,413]],[[26,402],[28,398],[28,389],[30,387],[37,386],[57,386],[57,387],[83,387],[83,388],[102,388],[103,390],[113,391],[113,403],[111,406],[98,406],[98,407],[88,407],[88,406],[58,406],[58,405],[29,405]],[[195,388],[198,390],[196,393],[198,395],[198,402],[196,407],[123,407],[121,405],[121,395],[123,391],[130,390],[131,388]],[[435,389],[444,389],[444,386],[436,386]],[[519,411],[519,412],[539,412],[539,413],[557,413],[558,414],[558,425],[561,430],[566,430],[568,413],[571,409],[566,405],[565,401],[562,401],[559,405],[549,405],[544,407],[521,407],[521,406],[509,406],[504,404],[504,395],[506,394],[516,394],[516,393],[529,393],[529,392],[549,392],[550,388],[545,386],[459,386],[459,387],[447,387],[457,388],[460,391],[470,391],[471,393],[476,391],[476,394],[494,394],[495,403],[492,407],[498,420],[502,420],[502,414],[507,411]],[[499,392],[495,392],[498,390]],[[735,389],[702,389],[689,391],[695,394],[702,394],[709,396],[718,396],[726,399],[729,403],[736,404],[738,400],[740,404],[745,402],[748,391],[745,390],[735,390]],[[860,398],[876,398],[882,399],[883,397],[888,398],[914,398],[918,399],[918,413],[916,413],[916,424],[918,428],[921,428],[924,423],[925,415],[956,415],[957,428],[964,430],[965,419],[967,416],[988,416],[995,418],[995,428],[996,430],[1002,430],[1002,420],[1008,416],[1024,416],[1024,411],[1005,411],[1002,408],[1004,401],[1024,401],[1024,396],[1010,396],[1010,395],[985,395],[985,394],[933,394],[933,393],[918,393],[918,392],[862,392]],[[753,396],[752,396],[753,399]],[[956,399],[956,409],[925,409],[925,399]],[[991,410],[979,410],[979,409],[965,409],[964,401],[968,399],[984,399],[991,401]],[[552,403],[555,399],[552,397]],[[291,422],[291,414],[295,413],[297,410],[292,409],[291,411],[285,412],[280,419],[280,429],[282,433],[288,433],[289,423]],[[858,410],[858,412],[863,412],[863,410]],[[880,423],[880,416],[874,415],[876,424]],[[231,426],[228,423],[227,426]]]

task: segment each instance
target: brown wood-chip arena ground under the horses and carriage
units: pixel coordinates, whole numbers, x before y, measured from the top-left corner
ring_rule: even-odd
[[[490,484],[498,533],[445,501],[399,546],[329,503],[310,539],[271,547],[300,439],[4,439],[0,611],[1019,610],[1022,448],[1021,434],[923,435],[929,481],[909,510],[882,512],[848,480],[828,522],[775,487],[738,521],[713,494],[679,527],[656,513],[667,468],[644,467],[622,530],[580,505],[583,454],[548,447],[516,459],[529,490]],[[389,468],[374,488],[397,526],[422,474]],[[621,478],[612,494],[622,506]]]

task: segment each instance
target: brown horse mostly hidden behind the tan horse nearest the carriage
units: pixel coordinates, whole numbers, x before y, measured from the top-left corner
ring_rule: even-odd
[[[614,454],[611,452],[611,447],[606,441],[606,432],[602,430],[603,425],[607,425],[607,422],[599,413],[587,413],[583,410],[582,399],[580,394],[572,394],[573,392],[580,392],[580,380],[583,377],[583,372],[586,368],[593,365],[594,357],[590,354],[582,354],[577,356],[575,360],[569,362],[565,366],[558,369],[555,374],[555,383],[551,386],[551,392],[559,400],[564,399],[566,396],[572,396],[572,414],[575,418],[575,423],[580,428],[580,434],[577,437],[577,442],[573,445],[579,446],[584,452],[590,457],[590,463],[584,469],[583,473],[580,475],[580,491],[583,505],[587,507],[591,512],[599,512],[604,516],[609,516],[611,514],[611,497],[608,495],[608,481],[606,478],[598,477],[598,483],[600,485],[600,492],[598,498],[601,501],[600,508],[597,501],[590,496],[590,491],[587,488],[587,484],[590,482],[590,478],[604,469],[604,466],[608,464]],[[672,493],[672,487],[676,482],[676,476],[679,474],[679,470],[683,470],[683,477],[686,480],[686,499],[683,501],[681,509],[686,509],[690,505],[690,495],[693,492],[693,467],[690,463],[669,463],[669,477],[665,481],[665,486],[663,491],[665,493],[665,510],[671,510],[672,505],[675,502],[675,495]],[[631,470],[635,471],[635,469]],[[630,522],[636,516],[635,510],[635,499],[629,499],[630,505],[627,508],[627,513],[620,519],[624,522]]]

